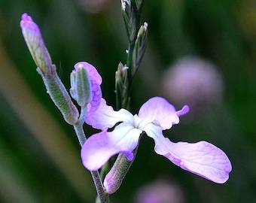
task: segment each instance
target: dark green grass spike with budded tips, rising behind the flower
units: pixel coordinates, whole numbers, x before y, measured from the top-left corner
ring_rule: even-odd
[[[143,0],[121,0],[129,47],[126,50],[126,64],[120,63],[115,75],[117,109],[130,107],[130,86],[145,53],[148,23],[139,26],[143,2]]]

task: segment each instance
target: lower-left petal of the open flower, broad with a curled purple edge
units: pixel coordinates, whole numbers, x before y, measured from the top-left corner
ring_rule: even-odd
[[[120,123],[112,132],[102,131],[92,135],[81,149],[84,167],[96,171],[117,153],[124,153],[132,161],[141,133],[142,130],[134,129],[130,123]]]

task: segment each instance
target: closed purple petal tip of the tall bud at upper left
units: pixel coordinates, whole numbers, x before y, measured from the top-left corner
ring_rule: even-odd
[[[41,69],[41,72],[44,75],[53,74],[50,54],[44,45],[44,40],[41,36],[38,25],[35,24],[32,17],[28,14],[23,14],[20,21],[20,27],[35,65]]]

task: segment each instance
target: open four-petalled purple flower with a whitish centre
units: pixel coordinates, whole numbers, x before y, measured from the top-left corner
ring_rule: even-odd
[[[97,111],[86,119],[87,124],[102,132],[92,135],[82,147],[84,166],[96,171],[117,153],[123,153],[127,159],[133,160],[133,150],[139,142],[139,136],[145,132],[154,139],[155,152],[175,165],[215,183],[226,182],[232,166],[227,155],[218,147],[206,141],[173,143],[163,136],[163,130],[178,124],[179,116],[188,111],[187,105],[175,111],[166,99],[154,97],[142,105],[138,115],[133,116],[125,109],[114,111],[102,98]],[[113,126],[114,130],[108,132]]]

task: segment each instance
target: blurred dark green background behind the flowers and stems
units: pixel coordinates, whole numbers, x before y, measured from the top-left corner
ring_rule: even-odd
[[[91,5],[96,2],[103,3]],[[93,202],[96,192],[72,126],[50,101],[21,35],[24,12],[40,26],[66,88],[73,65],[90,62],[102,75],[103,97],[114,106],[114,72],[126,61],[127,48],[120,2],[0,1],[0,202]],[[233,171],[224,184],[204,180],[158,156],[145,136],[111,201],[142,202],[136,197],[143,186],[166,181],[173,192],[167,202],[254,202],[256,2],[147,0],[144,21],[148,47],[133,83],[132,112],[151,96],[166,95],[162,75],[181,57],[212,62],[223,78],[221,102],[192,108],[164,135],[212,142],[227,153]]]

